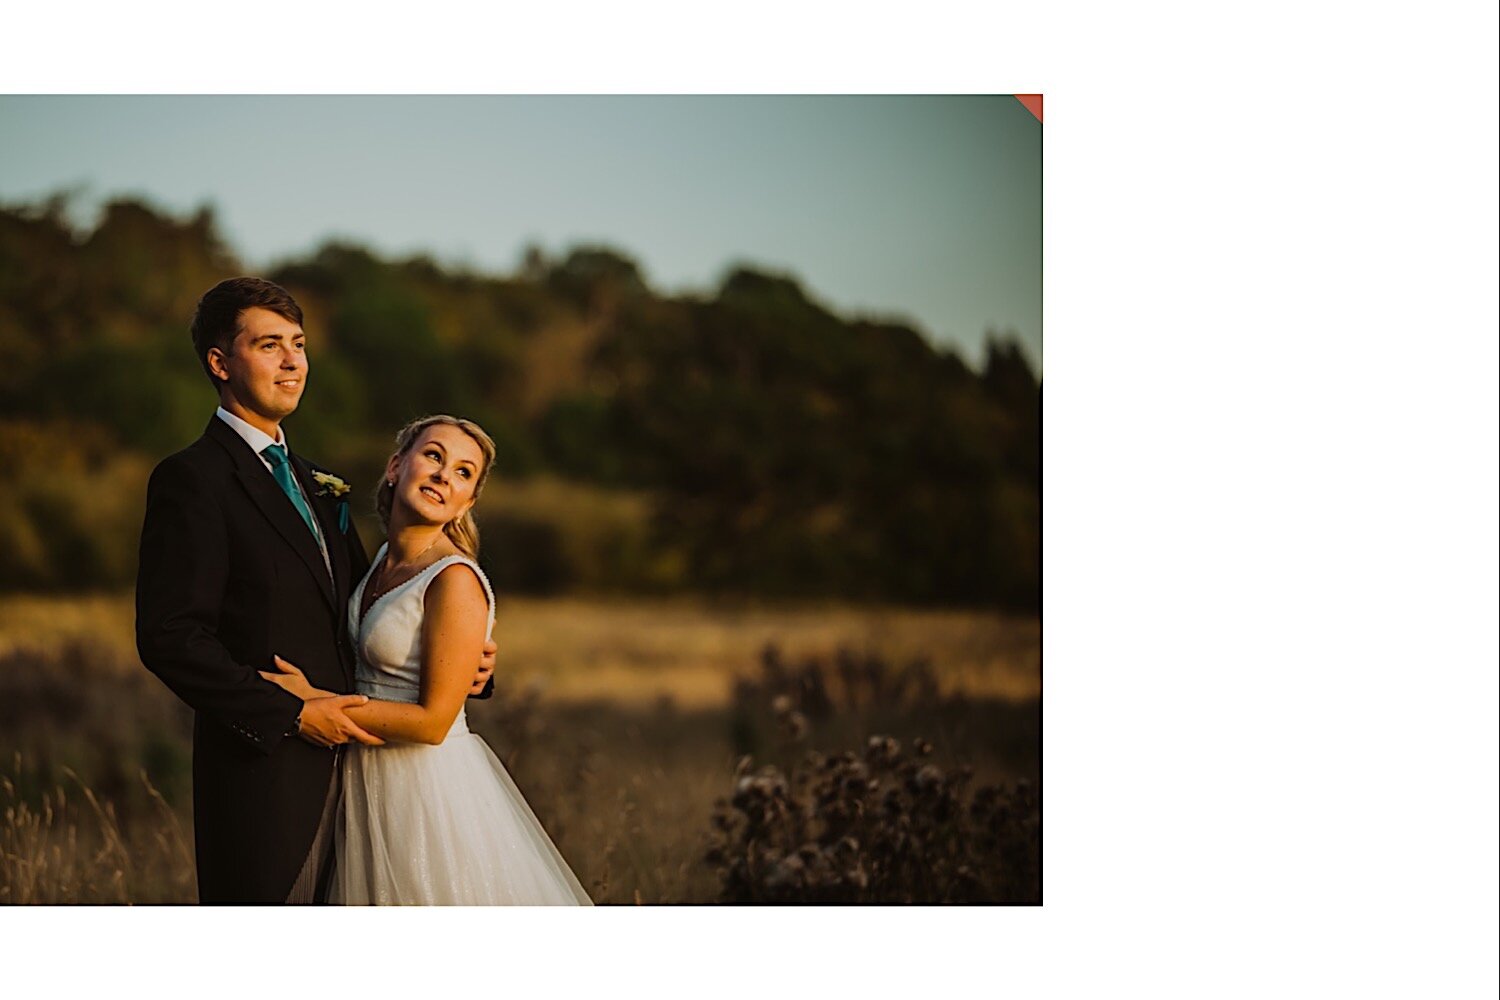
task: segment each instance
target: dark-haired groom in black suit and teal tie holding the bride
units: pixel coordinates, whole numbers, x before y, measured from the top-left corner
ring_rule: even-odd
[[[369,567],[348,486],[288,450],[308,381],[302,309],[258,277],[219,282],[192,321],[219,393],[204,435],[152,474],[136,648],[194,708],[194,840],[202,903],[315,903],[332,859],[339,747],[376,745],[345,694],[303,702],[261,679],[273,657],[354,690],[351,589]],[[488,697],[495,645],[476,690]],[[332,814],[332,813],[330,813]]]

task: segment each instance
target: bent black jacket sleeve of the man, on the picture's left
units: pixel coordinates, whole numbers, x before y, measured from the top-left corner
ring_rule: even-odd
[[[189,462],[166,459],[146,492],[135,648],[195,712],[268,754],[296,721],[302,699],[236,663],[219,642],[228,562],[222,508]]]

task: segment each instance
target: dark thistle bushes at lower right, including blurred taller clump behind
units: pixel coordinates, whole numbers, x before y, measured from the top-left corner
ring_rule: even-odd
[[[970,789],[972,760],[1034,760],[1040,724],[1036,702],[940,693],[928,657],[768,645],[730,705],[742,757],[705,856],[720,901],[1041,903],[1040,789],[1024,769]],[[934,754],[922,730],[966,753]]]

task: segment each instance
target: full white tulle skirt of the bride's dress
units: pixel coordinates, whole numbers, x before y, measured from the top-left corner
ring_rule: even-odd
[[[348,747],[328,901],[591,906],[495,753],[454,729],[436,747]]]

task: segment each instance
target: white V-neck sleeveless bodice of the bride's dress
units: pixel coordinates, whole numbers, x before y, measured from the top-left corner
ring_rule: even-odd
[[[360,694],[386,702],[416,705],[422,697],[422,622],[426,612],[428,586],[446,567],[454,562],[474,570],[489,600],[488,636],[495,628],[495,591],[478,565],[460,555],[444,556],[424,567],[410,580],[393,586],[375,598],[364,618],[360,619],[360,604],[364,603],[364,588],[375,576],[376,567],[386,558],[386,546],[380,547],[369,571],[350,597],[350,634],[358,654],[354,681]],[[460,708],[448,735],[468,732],[465,712]]]

